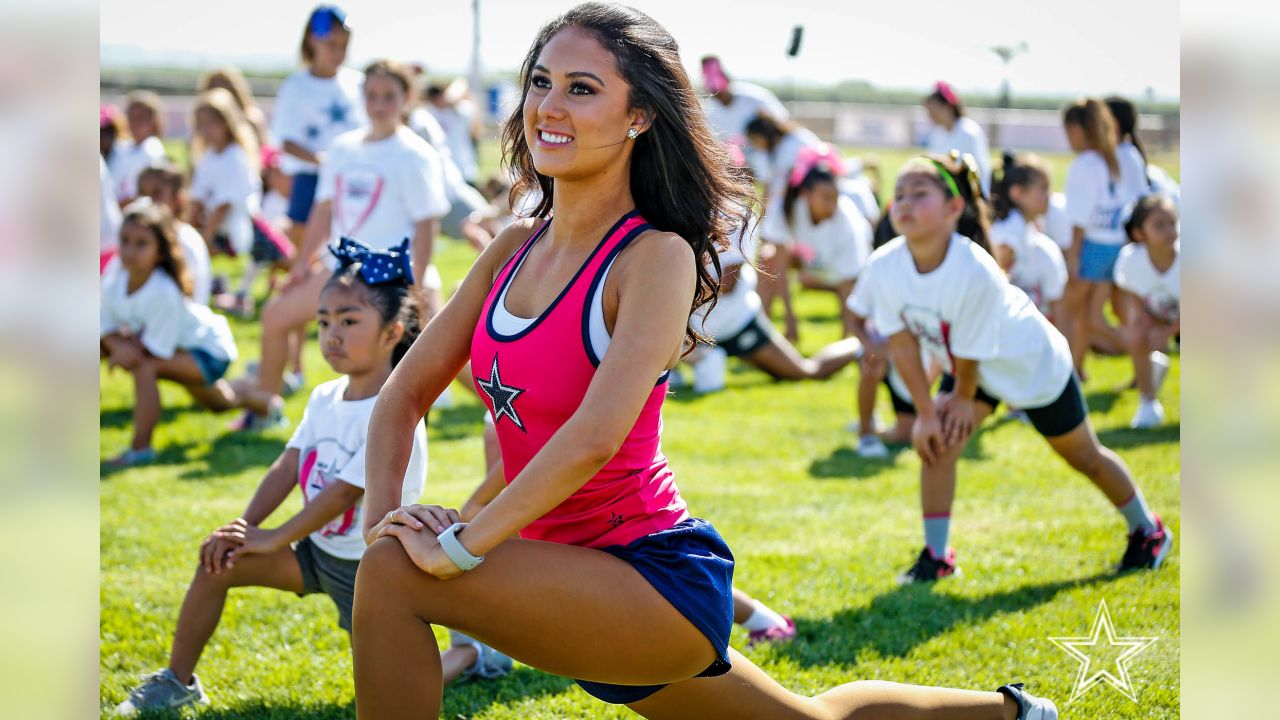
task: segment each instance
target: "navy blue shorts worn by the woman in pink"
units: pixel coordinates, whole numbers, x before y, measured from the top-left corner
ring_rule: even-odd
[[[728,673],[728,634],[733,628],[733,553],[710,523],[690,518],[630,544],[600,550],[635,568],[707,635],[716,648],[716,661],[699,673],[699,678]],[[591,696],[614,705],[644,700],[667,687],[576,682]]]

